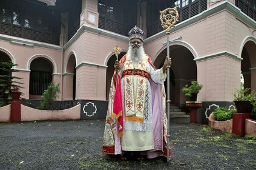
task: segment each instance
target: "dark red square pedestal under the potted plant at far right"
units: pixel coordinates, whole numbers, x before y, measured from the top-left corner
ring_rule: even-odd
[[[232,133],[243,137],[245,135],[245,120],[251,118],[251,114],[235,113],[233,114]]]

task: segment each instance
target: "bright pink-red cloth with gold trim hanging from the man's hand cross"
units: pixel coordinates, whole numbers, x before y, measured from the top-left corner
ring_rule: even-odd
[[[124,130],[124,122],[123,122],[123,108],[122,108],[122,94],[121,94],[121,80],[118,75],[116,80],[116,92],[115,98],[113,102],[113,117],[117,120],[118,123],[118,135],[122,137]]]

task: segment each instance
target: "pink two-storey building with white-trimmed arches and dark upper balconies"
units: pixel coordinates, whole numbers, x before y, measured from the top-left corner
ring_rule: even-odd
[[[241,73],[244,87],[256,90],[254,0],[2,0],[0,61],[18,64],[24,98],[40,98],[53,81],[60,83],[59,100],[82,104],[82,118],[104,118],[113,46],[126,53],[127,33],[138,25],[146,33],[146,53],[162,67],[166,36],[159,10],[174,6],[180,22],[169,36],[171,101],[182,106],[182,87],[199,81],[204,87],[197,97],[203,102],[198,121],[206,122],[216,107],[233,107]]]

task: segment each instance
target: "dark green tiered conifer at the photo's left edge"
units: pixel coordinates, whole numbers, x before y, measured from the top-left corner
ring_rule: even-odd
[[[1,97],[4,98],[2,102],[4,105],[9,104],[12,100],[10,93],[15,92],[16,90],[20,91],[19,88],[23,88],[18,84],[23,84],[18,81],[13,81],[14,79],[23,79],[20,77],[15,77],[12,75],[14,72],[18,72],[19,70],[13,69],[14,66],[18,66],[18,64],[13,64],[12,61],[1,62],[0,70],[4,72],[3,75],[0,75],[0,94]],[[17,89],[18,88],[18,89]],[[11,90],[12,89],[12,90]]]

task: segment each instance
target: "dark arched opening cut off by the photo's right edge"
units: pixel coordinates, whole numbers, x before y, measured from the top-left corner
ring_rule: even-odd
[[[244,88],[256,90],[256,44],[247,41],[244,44],[241,58],[241,73],[244,77]]]

